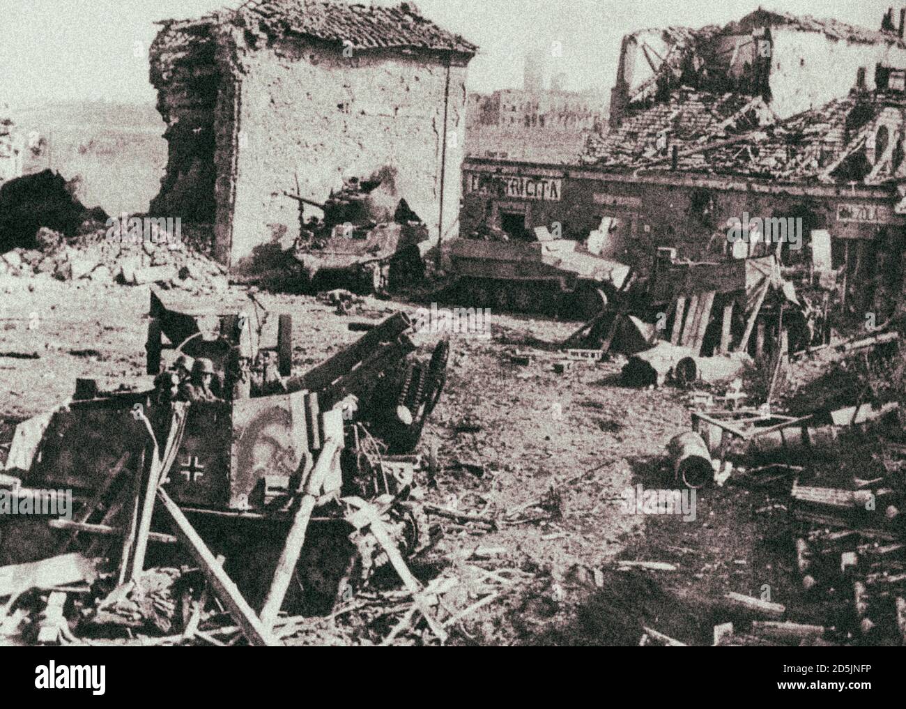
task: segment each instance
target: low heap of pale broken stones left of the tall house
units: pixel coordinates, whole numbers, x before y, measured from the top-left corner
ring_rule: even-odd
[[[151,223],[150,238],[131,238],[119,225],[94,224],[66,238],[43,227],[37,248],[14,248],[0,256],[0,276],[48,274],[63,281],[138,286],[156,283],[201,293],[228,286],[226,269]]]

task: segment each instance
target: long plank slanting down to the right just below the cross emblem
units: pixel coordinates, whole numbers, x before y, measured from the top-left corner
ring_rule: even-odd
[[[195,558],[207,582],[236,620],[236,624],[242,628],[248,642],[254,646],[282,646],[283,643],[271,633],[271,629],[265,627],[265,624],[255,616],[255,611],[239,593],[233,579],[229,578],[224,568],[217,563],[217,558],[207,548],[204,539],[201,539],[166,490],[158,488],[158,500],[173,522],[173,529],[178,538],[185,544],[192,558]]]

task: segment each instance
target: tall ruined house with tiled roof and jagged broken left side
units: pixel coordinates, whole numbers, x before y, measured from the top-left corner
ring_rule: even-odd
[[[456,228],[467,64],[474,44],[408,4],[260,0],[167,21],[151,83],[169,163],[151,210],[213,222],[215,254],[298,233],[297,202],[380,175],[432,238]]]

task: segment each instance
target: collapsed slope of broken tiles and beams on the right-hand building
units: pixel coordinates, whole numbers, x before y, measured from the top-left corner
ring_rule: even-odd
[[[719,116],[732,113],[746,100],[737,94],[675,92],[670,102],[589,141],[585,161],[616,170],[671,170],[671,146],[677,144],[677,170],[683,172],[875,185],[904,177],[902,147],[895,144],[906,126],[902,93],[852,92],[786,121],[768,119],[760,124],[752,121],[754,114],[744,105],[737,112],[743,120],[736,121],[736,128],[722,125]],[[751,107],[756,109],[757,105]],[[889,127],[888,145],[875,155],[873,136],[882,123]],[[652,137],[661,131],[666,135],[658,150]]]

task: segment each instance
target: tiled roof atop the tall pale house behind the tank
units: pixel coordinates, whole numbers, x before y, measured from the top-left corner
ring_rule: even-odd
[[[252,0],[243,12],[258,15],[278,34],[306,34],[356,49],[431,49],[474,54],[477,46],[418,14],[413,5],[349,5],[324,0]]]

